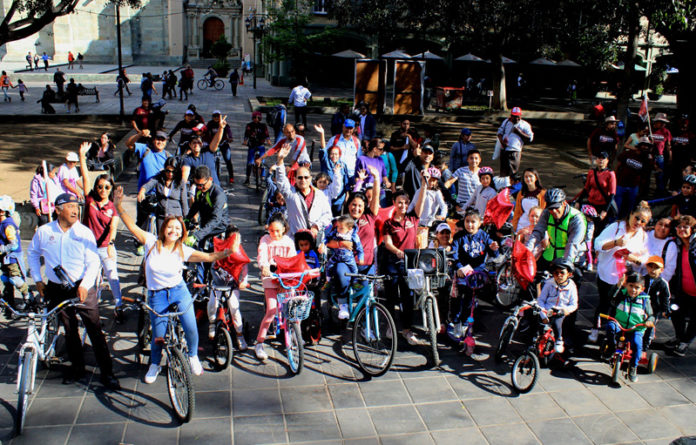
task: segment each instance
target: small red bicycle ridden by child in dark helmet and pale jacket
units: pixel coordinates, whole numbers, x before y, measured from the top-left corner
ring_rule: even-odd
[[[545,314],[549,321],[560,315],[556,311],[543,309],[536,301],[529,302],[528,305],[538,323],[536,323],[532,344],[517,357],[512,365],[512,386],[521,393],[534,389],[539,379],[541,364],[548,365],[555,356],[556,337],[550,322],[542,322],[541,315]]]

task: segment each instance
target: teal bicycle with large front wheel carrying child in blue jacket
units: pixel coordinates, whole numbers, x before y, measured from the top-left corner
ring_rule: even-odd
[[[353,324],[353,353],[360,369],[372,377],[389,371],[397,348],[396,324],[389,310],[377,301],[374,282],[384,275],[347,273],[347,277],[370,281],[350,286],[348,323]],[[357,300],[357,302],[356,302]]]

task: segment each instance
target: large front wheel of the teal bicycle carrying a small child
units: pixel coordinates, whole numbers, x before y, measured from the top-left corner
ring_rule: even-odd
[[[369,325],[369,329],[368,329]],[[353,353],[366,374],[378,377],[387,371],[396,355],[396,326],[391,314],[379,303],[363,307],[353,323]]]

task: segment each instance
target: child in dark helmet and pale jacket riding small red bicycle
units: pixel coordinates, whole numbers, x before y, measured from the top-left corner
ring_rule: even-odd
[[[551,273],[553,278],[544,282],[539,294],[538,303],[542,309],[546,310],[542,314],[542,322],[551,322],[553,334],[556,337],[556,353],[563,354],[565,346],[563,343],[563,322],[567,315],[572,314],[578,309],[578,288],[571,280],[575,267],[570,260],[556,258],[551,262]],[[549,312],[552,312],[550,314]]]

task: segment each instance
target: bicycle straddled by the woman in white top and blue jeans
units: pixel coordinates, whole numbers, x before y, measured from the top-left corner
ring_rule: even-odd
[[[169,400],[172,402],[174,413],[180,422],[188,422],[191,420],[196,406],[196,392],[193,386],[191,365],[188,360],[188,345],[184,338],[184,330],[181,327],[179,317],[191,308],[194,300],[191,299],[191,303],[183,311],[178,311],[178,305],[172,303],[162,313],[155,311],[140,298],[124,297],[123,300],[132,302],[133,304],[129,305],[129,308],[137,306],[141,314],[147,310],[155,317],[168,319],[167,331],[164,337],[157,337],[154,341],[162,345],[162,352],[165,355],[167,363],[167,392],[169,393]],[[140,344],[140,332],[138,332],[138,343]],[[136,354],[141,352],[136,351]]]

